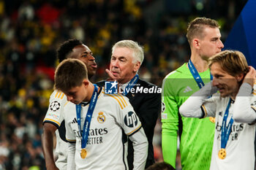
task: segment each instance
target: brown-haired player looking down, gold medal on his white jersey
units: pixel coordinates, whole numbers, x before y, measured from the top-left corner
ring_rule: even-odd
[[[55,88],[71,101],[63,114],[69,145],[67,169],[128,169],[123,132],[135,150],[134,169],[145,169],[148,141],[127,97],[106,94],[104,88],[92,84],[85,64],[77,59],[62,61],[54,80]]]

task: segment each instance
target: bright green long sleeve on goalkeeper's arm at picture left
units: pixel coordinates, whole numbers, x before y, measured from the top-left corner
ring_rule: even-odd
[[[176,167],[178,136],[178,102],[170,79],[162,83],[162,155],[164,161]]]

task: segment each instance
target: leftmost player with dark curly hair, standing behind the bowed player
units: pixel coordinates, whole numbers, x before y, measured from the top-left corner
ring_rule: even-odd
[[[89,78],[96,73],[97,63],[91,50],[78,39],[69,39],[62,43],[57,50],[59,62],[66,58],[78,58],[86,64]],[[46,169],[67,169],[67,142],[65,126],[62,117],[67,97],[59,90],[54,90],[50,96],[48,111],[43,120],[42,148],[45,156]],[[56,131],[59,129],[59,131]],[[56,136],[56,155],[53,155],[53,139]]]

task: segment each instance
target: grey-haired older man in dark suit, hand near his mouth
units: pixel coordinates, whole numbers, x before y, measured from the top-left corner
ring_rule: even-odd
[[[110,69],[106,72],[110,80],[116,80],[119,85],[119,93],[129,98],[129,102],[135,109],[148,139],[148,158],[146,168],[154,163],[153,135],[157,117],[161,109],[161,89],[156,85],[141,80],[138,70],[144,59],[143,47],[132,40],[116,42],[112,47]],[[99,82],[98,85],[102,85]],[[127,142],[127,138],[124,139]],[[133,147],[128,140],[128,164],[133,168]]]

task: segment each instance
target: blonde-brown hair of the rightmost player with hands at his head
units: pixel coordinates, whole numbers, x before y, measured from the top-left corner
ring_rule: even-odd
[[[232,76],[249,72],[249,66],[244,54],[237,50],[224,50],[217,53],[209,58],[208,66],[211,68],[213,63],[219,63],[221,68]]]

